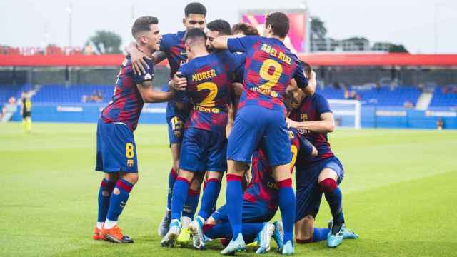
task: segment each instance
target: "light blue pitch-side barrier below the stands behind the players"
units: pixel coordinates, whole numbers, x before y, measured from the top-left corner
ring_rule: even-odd
[[[39,122],[92,122],[99,119],[104,104],[59,104],[34,103],[32,119]],[[145,104],[140,123],[165,124],[164,104]],[[340,115],[334,111],[339,126],[354,127],[353,115]],[[436,129],[438,119],[444,129],[457,129],[457,111],[428,110],[418,111],[396,107],[361,106],[361,128],[392,128],[392,129]],[[11,119],[21,121],[18,110]]]

